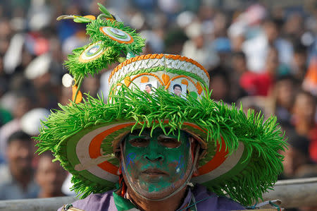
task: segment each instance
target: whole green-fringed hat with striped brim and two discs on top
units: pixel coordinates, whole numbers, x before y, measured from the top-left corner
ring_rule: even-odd
[[[192,182],[244,205],[261,198],[282,172],[278,151],[285,141],[275,117],[264,121],[254,111],[246,116],[242,108],[211,100],[209,73],[192,59],[170,54],[134,56],[141,52],[144,40],[99,6],[103,14],[97,19],[73,16],[77,22],[87,21],[92,38],[92,44],[76,49],[66,61],[75,78],[75,95],[78,80],[87,73],[97,73],[119,58],[123,61],[121,54],[130,59],[112,71],[107,102],[88,94],[79,102],[74,96],[73,103],[52,111],[42,122],[38,152],[54,152],[73,174],[73,189],[85,198],[115,188],[119,164],[115,154],[126,134],[136,128],[170,128],[176,134],[185,130],[202,149],[199,175]]]

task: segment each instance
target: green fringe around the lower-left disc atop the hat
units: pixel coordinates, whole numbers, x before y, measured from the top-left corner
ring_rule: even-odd
[[[108,47],[97,59],[88,62],[79,61],[80,54],[82,54],[89,45],[90,44],[87,44],[84,47],[74,49],[73,54],[68,55],[68,60],[64,63],[74,78],[84,78],[88,74],[94,76],[94,74],[99,73],[101,69],[107,68],[118,60],[118,52]]]

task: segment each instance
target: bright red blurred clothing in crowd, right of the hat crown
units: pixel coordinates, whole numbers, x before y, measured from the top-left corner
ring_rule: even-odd
[[[249,95],[267,96],[268,91],[273,85],[273,78],[268,73],[243,73],[240,78],[240,86]]]

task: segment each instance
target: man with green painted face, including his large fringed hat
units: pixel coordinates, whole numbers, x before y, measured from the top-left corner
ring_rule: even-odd
[[[100,9],[107,16],[106,8]],[[87,32],[94,42],[113,43],[113,50],[128,58],[109,75],[107,103],[87,95],[83,103],[63,106],[44,121],[37,137],[38,151],[54,152],[73,175],[73,190],[84,198],[73,207],[242,210],[239,203],[251,205],[272,187],[282,171],[278,152],[285,147],[274,119],[263,123],[254,113],[247,117],[211,100],[209,73],[197,61],[127,52],[144,46],[144,40],[123,23],[80,20],[91,22]],[[72,74],[94,71],[98,62],[111,59],[104,51],[78,66],[87,49],[68,56]],[[154,95],[135,88],[143,77],[160,84]],[[181,95],[180,84],[187,85],[186,97],[175,97]]]

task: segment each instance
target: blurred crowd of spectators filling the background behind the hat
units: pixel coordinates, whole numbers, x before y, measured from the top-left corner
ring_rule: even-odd
[[[142,54],[202,64],[214,100],[275,115],[289,143],[280,179],[317,176],[316,1],[1,0],[0,200],[69,194],[61,191],[66,171],[49,153],[35,155],[31,137],[50,109],[69,103],[63,61],[89,43],[85,24],[56,18],[97,16],[97,2],[147,39]],[[106,98],[116,65],[85,78],[82,92]]]

